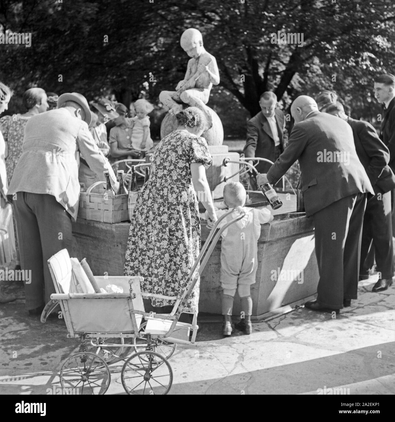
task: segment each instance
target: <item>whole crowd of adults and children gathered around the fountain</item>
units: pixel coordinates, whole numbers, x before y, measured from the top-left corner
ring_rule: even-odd
[[[294,100],[291,115],[295,124],[289,136],[273,92],[262,94],[262,111],[248,122],[245,156],[251,163],[254,157],[274,163],[257,166],[261,174],[251,175],[253,190],[267,182],[275,185],[299,161],[299,189],[304,194],[306,216],[314,219],[320,274],[317,299],[305,303],[314,311],[339,312],[351,306],[351,300],[357,298],[358,281],[368,276],[374,260],[379,280],[373,292],[392,284],[395,76],[379,76],[374,89],[376,99],[384,105],[380,135],[368,122],[351,119],[346,105],[330,91],[316,100],[305,95]],[[7,110],[12,94],[0,83],[0,114]],[[19,246],[16,257],[11,222],[8,235],[1,237],[0,260],[15,259],[22,270],[32,271],[32,281],[25,284],[26,308],[35,315],[41,314],[54,293],[47,260],[61,249],[71,249],[71,222],[76,220],[81,189],[104,181],[103,172],[108,170],[117,190],[116,166],[112,164],[154,151],[148,116],[153,106],[140,99],[131,113],[125,105],[106,98],[88,104],[81,94],[58,97],[40,88],[28,89],[23,104],[24,114],[0,119],[1,206],[13,204]],[[143,276],[144,291],[180,295],[200,248],[195,192],[204,198],[201,202],[209,226],[223,209],[243,211],[243,219],[222,234],[219,284],[223,289],[223,334],[234,331],[231,317],[236,291],[243,318],[235,326],[249,334],[256,242],[261,224],[272,216],[268,209],[246,207],[245,188],[235,182],[226,184],[222,209],[215,208],[205,174],[212,160],[201,136],[210,127],[207,115],[200,108],[188,107],[177,109],[175,119],[177,128],[155,148],[150,179],[136,203],[124,275]],[[331,152],[331,159],[326,151]],[[74,158],[58,159],[62,155]],[[125,169],[125,162],[117,167]],[[0,287],[1,303],[14,299]],[[184,309],[185,321],[197,312],[198,302],[196,283]],[[172,309],[163,298],[145,299],[144,304],[146,311],[168,313]]]

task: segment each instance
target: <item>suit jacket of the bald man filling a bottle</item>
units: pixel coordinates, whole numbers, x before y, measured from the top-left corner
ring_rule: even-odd
[[[295,124],[286,149],[267,172],[269,183],[278,181],[296,160],[306,216],[358,192],[374,195],[358,159],[351,127],[336,116],[314,111]]]

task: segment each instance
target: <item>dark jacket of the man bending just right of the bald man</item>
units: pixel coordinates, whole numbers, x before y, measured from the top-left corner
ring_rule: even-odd
[[[350,117],[347,122],[354,135],[358,158],[366,170],[373,189],[382,193],[395,189],[395,175],[387,165],[390,161],[390,151],[380,140],[376,129],[368,122]]]

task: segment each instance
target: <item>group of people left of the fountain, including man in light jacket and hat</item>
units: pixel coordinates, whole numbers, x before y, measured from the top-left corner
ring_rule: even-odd
[[[8,109],[12,95],[12,90],[0,83],[0,114]],[[105,181],[103,170],[111,170],[115,181],[112,163],[132,157],[143,158],[147,152],[153,150],[150,120],[147,116],[153,106],[141,99],[128,108],[106,98],[98,102],[92,101],[88,105],[82,95],[71,93],[59,97],[56,93],[45,92],[41,88],[27,89],[22,95],[22,105],[26,109],[25,113],[0,118],[1,210],[4,211],[10,202],[14,209],[14,225],[11,219],[7,233],[0,238],[0,265],[7,264],[9,270],[32,270],[35,279],[39,280],[34,283],[39,291],[43,287],[43,273],[46,275],[45,285],[52,283],[47,266],[42,268],[38,264],[43,261],[42,255],[45,255],[46,262],[54,251],[59,250],[59,246],[71,245],[71,222],[64,218],[55,220],[56,227],[53,227],[54,231],[51,233],[48,217],[52,212],[56,214],[54,209],[57,208],[63,216],[73,215],[75,219],[80,190],[85,190],[97,181]],[[76,107],[80,109],[78,115],[73,111]],[[53,112],[54,110],[56,111]],[[78,125],[75,119],[68,119],[70,113],[65,111],[71,112],[71,116],[77,117],[80,122],[85,122],[87,127]],[[32,120],[33,117],[39,119]],[[68,123],[67,128],[63,121]],[[79,129],[73,133],[76,124]],[[92,157],[96,158],[96,164],[92,163]],[[40,160],[43,161],[41,168]],[[100,162],[99,166],[97,161]],[[124,166],[124,163],[121,162],[120,166]],[[9,185],[11,189],[17,186],[16,189],[19,190],[16,192],[42,195],[35,198],[38,208],[33,214],[26,214],[35,209],[33,202],[25,203],[25,210],[18,209],[16,204],[21,206],[23,201],[16,201],[16,192],[11,195]],[[21,197],[24,195],[20,195],[19,199]],[[52,202],[54,198],[57,201],[55,208],[54,204],[51,206],[44,201],[46,199]],[[63,204],[62,209],[58,207],[59,204]],[[65,209],[68,213],[64,213]],[[22,211],[25,213],[23,217],[20,214]],[[18,233],[17,242],[15,230]],[[63,239],[55,238],[56,230],[58,233],[62,232]],[[33,243],[29,246],[26,242]],[[37,254],[27,252],[32,248],[36,249]],[[27,291],[29,288],[32,289],[33,286],[27,286]],[[49,299],[51,292],[49,286],[46,299]],[[38,298],[33,299],[35,296]],[[26,297],[30,314],[39,313],[42,306],[40,295],[34,293],[27,294]],[[15,296],[5,294],[0,286],[0,303],[12,300],[15,300]],[[30,302],[37,306],[31,308],[28,304]]]

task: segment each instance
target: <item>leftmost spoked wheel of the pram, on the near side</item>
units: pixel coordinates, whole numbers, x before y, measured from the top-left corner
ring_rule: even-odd
[[[75,389],[73,394],[104,394],[110,380],[110,371],[104,359],[91,352],[73,354],[65,360],[60,370],[62,388],[69,391]]]

